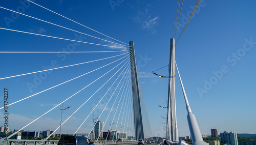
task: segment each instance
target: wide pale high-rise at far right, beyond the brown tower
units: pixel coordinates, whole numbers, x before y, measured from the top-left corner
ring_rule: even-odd
[[[222,132],[221,134],[221,143],[228,143],[230,145],[238,145],[238,135],[234,132]]]

